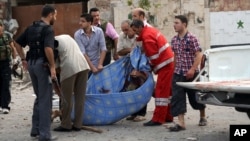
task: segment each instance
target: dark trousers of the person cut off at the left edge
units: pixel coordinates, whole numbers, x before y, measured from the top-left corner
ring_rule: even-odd
[[[9,109],[11,101],[11,67],[9,61],[0,61],[0,107]]]

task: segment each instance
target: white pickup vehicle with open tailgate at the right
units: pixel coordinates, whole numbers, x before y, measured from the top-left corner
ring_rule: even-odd
[[[199,103],[235,107],[250,118],[250,45],[206,50],[197,78],[177,84],[198,90]]]

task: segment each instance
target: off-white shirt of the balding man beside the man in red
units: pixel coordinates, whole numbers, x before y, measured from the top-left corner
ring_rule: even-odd
[[[133,38],[128,38],[128,36],[121,32],[118,38],[117,52],[124,48],[133,48],[136,45],[136,35]]]

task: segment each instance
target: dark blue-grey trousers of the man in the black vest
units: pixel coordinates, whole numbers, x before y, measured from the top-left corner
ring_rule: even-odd
[[[36,94],[31,134],[39,134],[39,140],[48,140],[51,138],[52,110],[52,84],[49,78],[49,68],[44,66],[42,58],[28,63],[28,71]]]

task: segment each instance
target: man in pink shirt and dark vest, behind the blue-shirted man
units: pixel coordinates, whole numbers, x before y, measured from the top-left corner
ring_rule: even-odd
[[[91,8],[89,10],[89,14],[93,17],[93,25],[100,27],[103,30],[103,33],[105,35],[105,42],[107,47],[107,52],[105,56],[105,60],[103,62],[103,65],[106,66],[110,64],[111,62],[111,52],[113,50],[113,59],[117,60],[119,59],[119,56],[117,54],[117,42],[118,42],[118,33],[116,32],[114,26],[107,21],[100,19],[100,11],[98,8]]]

